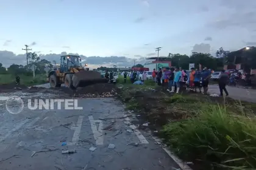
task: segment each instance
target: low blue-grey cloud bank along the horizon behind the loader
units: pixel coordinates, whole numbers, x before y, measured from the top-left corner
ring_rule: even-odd
[[[40,59],[46,59],[48,61],[57,61],[57,63],[60,63],[60,56],[62,55],[79,55],[78,53],[66,53],[62,52],[59,54],[56,53],[50,53],[50,54],[38,54],[40,56]],[[133,66],[133,60],[134,58],[127,58],[126,56],[84,56],[80,55],[82,58],[82,63],[88,63],[89,66],[93,67],[100,67],[100,66],[113,66],[115,64],[116,66],[126,66],[130,67]],[[13,52],[9,51],[0,51],[0,57],[3,66],[9,67],[11,64],[22,64],[26,65],[26,55],[25,54],[19,54],[16,55]],[[144,64],[146,62],[146,59],[138,56],[136,58],[136,63]]]

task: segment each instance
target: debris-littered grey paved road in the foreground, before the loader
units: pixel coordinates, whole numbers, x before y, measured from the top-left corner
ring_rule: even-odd
[[[84,98],[78,106],[83,109],[24,107],[16,115],[0,106],[0,169],[179,168],[150,134],[136,129],[137,123],[131,124],[132,117],[122,118],[127,113],[118,101]],[[67,144],[62,146],[62,142]],[[115,144],[114,149],[108,148],[110,143]],[[92,146],[97,149],[90,151]],[[76,153],[62,154],[66,149],[76,149]]]

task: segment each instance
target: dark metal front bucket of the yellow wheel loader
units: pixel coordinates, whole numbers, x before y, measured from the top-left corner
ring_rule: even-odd
[[[73,86],[85,87],[96,83],[107,83],[105,78],[102,78],[101,73],[93,70],[81,70],[73,75]]]

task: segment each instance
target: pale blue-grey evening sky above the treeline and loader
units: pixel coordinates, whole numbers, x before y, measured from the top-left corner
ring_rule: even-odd
[[[41,58],[71,52],[138,60],[155,56],[155,47],[163,47],[160,55],[167,56],[169,52],[190,55],[192,50],[215,53],[221,46],[226,50],[256,46],[255,0],[0,2],[0,63],[4,65],[24,63],[24,55],[19,55],[24,54],[24,44]],[[100,59],[106,61],[98,58],[91,64],[101,64]]]

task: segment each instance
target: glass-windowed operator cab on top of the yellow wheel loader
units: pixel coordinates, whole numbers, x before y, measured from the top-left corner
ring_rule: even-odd
[[[70,67],[82,67],[81,58],[78,55],[60,56],[60,72],[68,72]]]

